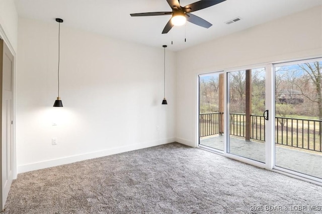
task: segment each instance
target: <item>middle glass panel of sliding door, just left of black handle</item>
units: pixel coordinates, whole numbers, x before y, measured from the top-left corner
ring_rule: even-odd
[[[229,72],[227,77],[227,152],[265,163],[265,68]]]

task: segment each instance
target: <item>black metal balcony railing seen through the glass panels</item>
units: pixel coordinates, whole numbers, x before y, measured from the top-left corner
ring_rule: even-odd
[[[222,113],[199,115],[199,137],[220,133]],[[251,115],[251,139],[265,141],[265,119],[261,115]],[[322,120],[275,117],[275,143],[322,152]],[[229,134],[246,136],[246,115],[230,113]]]

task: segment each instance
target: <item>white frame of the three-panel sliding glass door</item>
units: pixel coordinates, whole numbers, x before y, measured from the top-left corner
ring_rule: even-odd
[[[322,185],[322,179],[319,179],[314,176],[306,175],[300,172],[292,171],[289,169],[285,169],[282,167],[275,166],[275,67],[281,66],[281,65],[292,65],[295,62],[296,63],[303,63],[303,62],[314,62],[314,61],[320,61],[322,60],[321,56],[315,56],[315,57],[307,57],[307,58],[300,58],[300,59],[293,59],[293,60],[284,60],[284,61],[275,61],[270,63],[262,63],[262,64],[254,64],[249,66],[240,66],[240,67],[234,67],[234,68],[228,68],[228,69],[222,69],[219,71],[214,72],[208,72],[208,73],[199,73],[196,75],[197,79],[197,115],[196,115],[196,124],[197,124],[197,130],[196,130],[196,145],[199,148],[209,150],[211,152],[215,152],[217,154],[223,155],[225,157],[235,159],[241,162],[245,162],[254,166],[258,166],[261,168],[266,168],[271,171],[275,171],[281,174],[285,174],[290,177],[294,177],[300,180],[305,180],[308,182],[315,183],[317,185]],[[234,72],[234,71],[240,71],[240,70],[247,70],[247,69],[256,69],[256,68],[265,68],[266,69],[266,80],[265,80],[265,108],[269,110],[269,120],[266,121],[265,126],[265,133],[266,133],[266,141],[265,141],[265,163],[248,159],[245,157],[240,157],[234,154],[228,153],[228,131],[229,131],[229,115],[228,115],[228,109],[229,109],[229,94],[228,94],[228,88],[229,88],[229,79],[228,79],[228,73]],[[211,74],[224,74],[224,151],[210,148],[208,146],[203,146],[199,144],[199,114],[200,114],[200,85],[199,85],[199,77],[201,76],[208,76]]]

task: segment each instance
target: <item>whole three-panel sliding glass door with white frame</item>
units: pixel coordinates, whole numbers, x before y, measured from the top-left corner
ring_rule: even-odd
[[[199,145],[322,182],[322,59],[199,76]]]

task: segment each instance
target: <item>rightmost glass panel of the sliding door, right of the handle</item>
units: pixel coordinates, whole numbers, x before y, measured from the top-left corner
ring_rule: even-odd
[[[322,178],[322,61],[274,70],[275,165]]]

